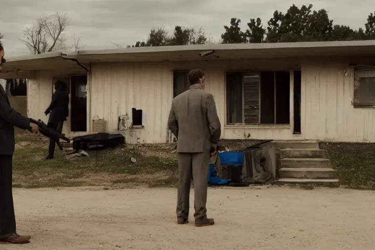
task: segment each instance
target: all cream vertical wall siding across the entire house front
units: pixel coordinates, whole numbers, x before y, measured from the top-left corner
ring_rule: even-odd
[[[131,119],[134,107],[145,114],[144,128],[131,129],[125,135],[127,143],[167,142],[167,117],[173,99],[172,72],[202,68],[206,71],[206,90],[215,98],[222,139],[375,142],[375,110],[353,107],[354,69],[348,65],[349,59],[95,63],[91,65],[88,83],[90,131],[91,121],[97,116],[106,121],[108,132],[117,132],[118,117],[127,114]],[[293,136],[292,126],[288,125],[226,125],[226,71],[293,69],[302,72],[300,136]],[[63,74],[37,72],[28,80],[29,117],[47,121],[43,112],[50,103],[52,77],[56,76]],[[69,122],[64,124],[63,132],[74,135]]]

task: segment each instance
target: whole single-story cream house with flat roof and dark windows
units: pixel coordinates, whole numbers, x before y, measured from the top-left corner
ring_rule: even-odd
[[[27,78],[27,113],[43,114],[53,83],[69,85],[63,132],[166,143],[187,72],[206,72],[222,139],[375,142],[375,41],[205,44],[50,52],[7,58],[0,78]]]

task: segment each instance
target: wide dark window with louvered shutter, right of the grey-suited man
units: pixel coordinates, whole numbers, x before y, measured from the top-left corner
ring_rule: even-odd
[[[289,125],[290,72],[229,72],[227,124]]]

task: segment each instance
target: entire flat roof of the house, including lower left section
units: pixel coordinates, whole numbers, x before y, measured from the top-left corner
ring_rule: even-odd
[[[214,51],[208,57],[200,54]],[[300,58],[319,56],[375,56],[375,40],[335,42],[277,42],[198,44],[180,46],[134,47],[123,49],[48,52],[6,58],[0,78],[14,71],[37,71],[79,68],[95,62],[181,62],[225,59]],[[13,74],[10,74],[13,75]]]

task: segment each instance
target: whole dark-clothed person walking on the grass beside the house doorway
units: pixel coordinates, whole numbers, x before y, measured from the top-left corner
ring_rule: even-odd
[[[66,84],[62,81],[55,83],[55,93],[52,96],[51,104],[45,110],[44,114],[48,115],[47,126],[55,129],[56,131],[62,132],[62,125],[66,118],[69,116],[69,96],[66,93]],[[54,158],[56,142],[52,139],[49,140],[48,156],[46,160]]]

